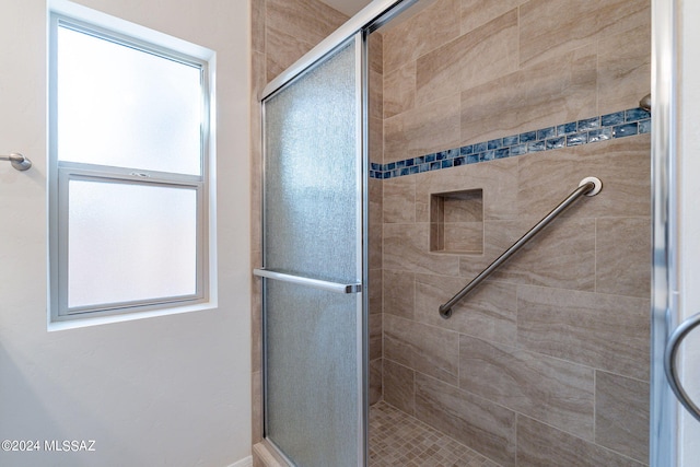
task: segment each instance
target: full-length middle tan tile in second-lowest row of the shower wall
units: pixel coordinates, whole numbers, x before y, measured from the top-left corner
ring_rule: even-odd
[[[459,387],[593,441],[590,367],[462,335]]]

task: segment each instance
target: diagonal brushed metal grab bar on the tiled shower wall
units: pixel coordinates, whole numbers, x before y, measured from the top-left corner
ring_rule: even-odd
[[[585,196],[595,196],[600,192],[603,188],[603,183],[600,179],[596,177],[586,177],[581,180],[579,184],[579,188],[573,190],[571,195],[567,197],[563,201],[561,201],[555,209],[552,209],[549,214],[545,215],[545,218],[539,221],[534,227],[532,227],[525,235],[523,235],[517,242],[515,242],[509,249],[506,249],[501,256],[499,256],[493,262],[491,262],[485,270],[482,270],[479,276],[474,278],[471,282],[469,282],[464,289],[462,289],[455,296],[450,299],[446,303],[440,305],[440,316],[447,319],[452,316],[452,307],[465,297],[466,294],[471,292],[477,288],[486,278],[491,276],[491,273],[498,269],[503,262],[505,262],[511,256],[515,254],[523,245],[529,242],[539,231],[545,229],[557,215],[561,214],[572,202],[576,199]]]

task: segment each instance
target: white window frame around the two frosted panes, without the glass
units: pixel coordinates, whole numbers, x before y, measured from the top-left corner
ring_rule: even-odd
[[[214,187],[210,177],[212,164],[213,118],[211,73],[214,54],[164,34],[95,12],[62,0],[52,2],[49,14],[49,330],[52,325],[77,323],[92,325],[114,320],[135,319],[171,313],[183,313],[215,306],[215,250],[213,219]],[[68,13],[68,14],[67,14]],[[98,38],[153,54],[199,68],[202,89],[202,126],[200,147],[200,175],[185,175],[133,167],[114,167],[58,160],[57,145],[57,36],[58,27],[66,26]],[[194,54],[192,54],[194,52]],[[70,180],[90,180],[141,186],[194,189],[197,194],[197,279],[196,292],[185,296],[170,296],[144,301],[104,303],[94,306],[68,306],[68,187]],[[210,199],[212,198],[212,199]],[[115,319],[116,318],[116,319]],[[85,320],[98,323],[89,323]],[[72,326],[69,326],[72,327]]]

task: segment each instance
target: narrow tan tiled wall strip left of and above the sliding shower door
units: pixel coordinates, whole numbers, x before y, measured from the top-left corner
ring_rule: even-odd
[[[294,63],[348,20],[317,0],[253,0],[250,92],[250,179],[253,268],[261,266],[261,116],[260,94],[265,85]],[[253,281],[253,443],[262,440],[261,294]],[[254,462],[260,463],[254,453]]]

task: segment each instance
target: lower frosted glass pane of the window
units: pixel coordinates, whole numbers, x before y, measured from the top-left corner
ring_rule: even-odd
[[[197,191],[70,180],[68,306],[192,295]]]

